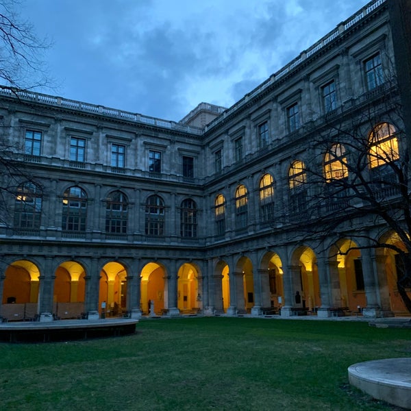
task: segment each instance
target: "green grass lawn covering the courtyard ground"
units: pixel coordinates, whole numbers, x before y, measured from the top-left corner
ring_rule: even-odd
[[[351,321],[140,321],[132,336],[0,343],[0,410],[393,410],[347,367],[411,356],[411,329]]]

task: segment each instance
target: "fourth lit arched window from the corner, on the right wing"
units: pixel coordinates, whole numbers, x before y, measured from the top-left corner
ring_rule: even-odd
[[[290,187],[290,216],[298,218],[307,207],[307,173],[306,165],[296,160],[288,171],[288,186]]]

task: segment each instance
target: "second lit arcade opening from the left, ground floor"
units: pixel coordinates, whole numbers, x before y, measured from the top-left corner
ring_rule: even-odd
[[[53,313],[60,319],[81,318],[84,313],[86,282],[84,269],[75,261],[66,261],[55,271]]]

